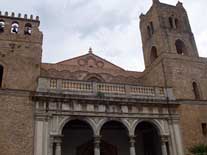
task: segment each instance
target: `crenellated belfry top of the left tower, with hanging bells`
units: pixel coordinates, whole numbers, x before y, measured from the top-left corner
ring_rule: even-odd
[[[42,33],[39,30],[40,20],[39,16],[21,13],[9,14],[7,11],[2,13],[0,11],[0,38],[2,40],[13,41],[42,41]]]

